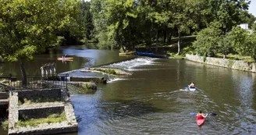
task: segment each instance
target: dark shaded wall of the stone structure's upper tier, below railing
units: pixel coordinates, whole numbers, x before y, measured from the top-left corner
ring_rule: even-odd
[[[19,100],[23,100],[23,98],[27,98],[31,100],[33,98],[50,98],[50,99],[57,99],[62,98],[61,90],[56,89],[43,89],[43,90],[23,90],[17,91],[19,94]]]

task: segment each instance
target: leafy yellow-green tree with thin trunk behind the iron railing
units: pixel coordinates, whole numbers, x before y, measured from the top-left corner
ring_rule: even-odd
[[[8,61],[20,61],[23,84],[27,83],[23,62],[58,45],[57,34],[76,21],[79,3],[79,0],[0,2],[0,52]]]

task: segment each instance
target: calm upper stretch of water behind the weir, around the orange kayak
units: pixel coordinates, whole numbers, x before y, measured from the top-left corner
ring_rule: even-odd
[[[68,48],[59,48],[52,50],[48,54],[36,55],[34,61],[25,62],[24,66],[27,75],[40,75],[40,67],[46,63],[56,63],[56,73],[65,73],[75,69],[82,69],[89,66],[100,66],[112,62],[120,62],[126,59],[133,59],[134,56],[119,56],[119,51],[106,51],[106,50],[91,50],[85,46],[73,46]],[[66,54],[66,57],[72,57],[73,61],[57,61],[57,58]],[[4,63],[0,64],[0,73],[9,74],[13,76],[20,76],[20,63]]]

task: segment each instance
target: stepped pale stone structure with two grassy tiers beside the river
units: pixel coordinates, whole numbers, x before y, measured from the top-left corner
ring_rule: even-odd
[[[19,105],[19,99],[27,98],[61,98],[61,101],[40,102]],[[37,126],[18,126],[17,123],[26,115],[28,119],[45,118],[53,113],[65,112],[66,120],[60,123],[41,123]],[[78,124],[73,112],[69,93],[62,89],[42,89],[12,91],[9,94],[9,135],[55,134],[76,132]]]

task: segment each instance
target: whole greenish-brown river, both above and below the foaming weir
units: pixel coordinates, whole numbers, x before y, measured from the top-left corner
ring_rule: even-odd
[[[79,135],[256,134],[255,73],[183,59],[121,57],[115,51],[80,47],[63,48],[61,53],[74,57],[74,62],[57,62],[58,73],[101,65],[133,73],[99,84],[95,94],[71,96],[76,117],[80,117]],[[31,71],[36,69],[31,67]],[[191,81],[198,91],[184,89]],[[217,115],[209,115],[198,127],[190,112],[200,110]]]

